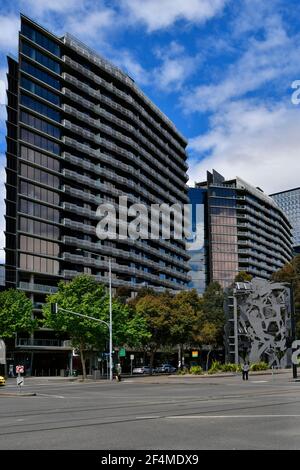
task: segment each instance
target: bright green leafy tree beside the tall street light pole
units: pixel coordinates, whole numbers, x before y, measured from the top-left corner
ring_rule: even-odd
[[[58,284],[58,292],[47,297],[44,306],[45,324],[56,331],[70,336],[72,345],[80,351],[83,377],[86,378],[86,352],[91,349],[103,350],[109,338],[108,327],[88,318],[81,318],[60,310],[53,315],[50,303],[57,303],[61,309],[88,315],[109,322],[109,295],[106,288],[98,284],[91,276],[81,275],[71,282]],[[145,321],[140,315],[114,298],[113,344],[138,346],[148,337]]]

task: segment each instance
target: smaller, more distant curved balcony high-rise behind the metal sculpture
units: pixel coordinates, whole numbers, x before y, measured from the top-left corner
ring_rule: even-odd
[[[213,170],[207,180],[190,189],[192,205],[202,206],[203,230],[200,219],[199,239],[206,283],[218,281],[228,287],[240,271],[270,279],[292,257],[291,224],[273,199],[260,188],[241,178],[225,180]],[[198,193],[197,193],[198,192]],[[197,196],[198,194],[198,196]],[[201,212],[201,211],[200,211]],[[203,237],[204,234],[204,237]],[[195,257],[199,251],[191,245],[192,282],[197,284]],[[197,261],[197,260],[196,260]],[[201,260],[198,259],[198,264]]]

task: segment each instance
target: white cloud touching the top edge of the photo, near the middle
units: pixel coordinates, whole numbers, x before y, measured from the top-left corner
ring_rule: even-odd
[[[131,21],[146,24],[148,32],[172,26],[178,20],[204,23],[222,11],[228,0],[122,0]]]

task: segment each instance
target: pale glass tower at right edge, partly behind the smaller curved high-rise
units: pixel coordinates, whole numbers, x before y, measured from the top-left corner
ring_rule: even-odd
[[[293,250],[300,253],[300,188],[288,189],[270,195],[292,224]]]

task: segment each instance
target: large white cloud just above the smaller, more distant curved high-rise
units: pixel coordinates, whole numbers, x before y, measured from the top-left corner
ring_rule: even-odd
[[[213,117],[211,129],[190,141],[190,183],[212,168],[272,193],[299,186],[300,107],[239,101]],[[199,161],[199,155],[205,155]]]

